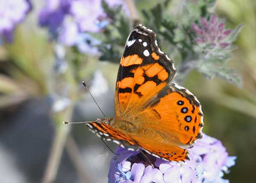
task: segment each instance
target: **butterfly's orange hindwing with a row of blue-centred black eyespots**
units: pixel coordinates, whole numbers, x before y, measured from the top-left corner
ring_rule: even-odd
[[[186,149],[202,137],[201,104],[189,90],[174,83],[153,99],[135,117],[143,133],[130,134],[131,137],[143,149],[163,159],[188,159]]]

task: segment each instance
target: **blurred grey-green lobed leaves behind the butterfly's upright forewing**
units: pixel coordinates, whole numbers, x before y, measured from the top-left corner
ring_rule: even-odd
[[[170,54],[169,51],[178,54],[179,59],[174,60],[178,72],[176,82],[182,82],[189,71],[197,69],[207,78],[217,76],[241,87],[241,77],[233,69],[226,68],[225,63],[235,49],[232,43],[236,40],[242,26],[238,26],[223,40],[230,44],[225,49],[220,46],[212,47],[209,43],[195,42],[197,35],[192,29],[192,23],[199,26],[202,17],[209,18],[214,4],[215,0],[186,1],[183,9],[170,11],[169,8],[173,6],[172,1],[161,1],[151,9],[141,11],[142,24],[157,33],[158,45],[167,54]],[[100,39],[102,40],[99,46],[102,52],[100,60],[119,63],[126,37],[132,29],[131,23],[122,13],[121,6],[113,9],[105,1],[102,1],[102,6],[110,20]]]

